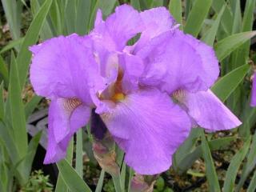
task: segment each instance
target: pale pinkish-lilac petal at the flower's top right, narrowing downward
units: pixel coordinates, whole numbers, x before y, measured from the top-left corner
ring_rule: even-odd
[[[145,26],[141,37],[134,46],[134,52],[137,52],[145,46],[151,38],[158,36],[168,30],[174,29],[175,20],[170,15],[170,11],[166,7],[156,7],[150,10],[145,10],[140,13],[142,22]]]

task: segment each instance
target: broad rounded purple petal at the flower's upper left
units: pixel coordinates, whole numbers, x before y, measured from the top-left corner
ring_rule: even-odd
[[[34,53],[30,82],[37,94],[46,98],[76,97],[90,103],[89,76],[97,74],[97,65],[88,47],[82,45],[84,39],[72,34],[30,48]]]

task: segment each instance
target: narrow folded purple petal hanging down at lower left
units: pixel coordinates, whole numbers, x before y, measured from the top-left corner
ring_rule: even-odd
[[[72,109],[74,105],[62,98],[50,103],[45,164],[65,158],[66,148],[73,134],[89,121],[90,108],[79,104]]]

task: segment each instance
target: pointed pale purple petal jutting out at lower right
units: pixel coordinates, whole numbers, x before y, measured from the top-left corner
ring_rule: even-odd
[[[186,93],[183,99],[188,114],[206,130],[230,130],[242,124],[210,90]]]

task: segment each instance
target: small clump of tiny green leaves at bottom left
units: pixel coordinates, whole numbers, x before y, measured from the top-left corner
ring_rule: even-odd
[[[22,187],[21,192],[51,192],[53,185],[49,182],[49,175],[44,175],[42,170],[35,170],[26,186]]]

